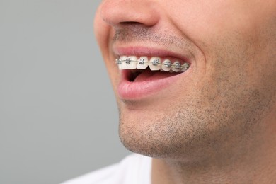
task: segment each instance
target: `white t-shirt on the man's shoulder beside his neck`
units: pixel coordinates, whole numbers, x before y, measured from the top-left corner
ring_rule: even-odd
[[[131,154],[125,159],[98,171],[68,180],[62,184],[150,184],[151,158]]]

